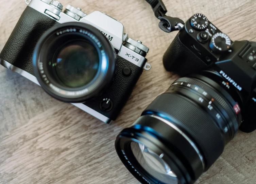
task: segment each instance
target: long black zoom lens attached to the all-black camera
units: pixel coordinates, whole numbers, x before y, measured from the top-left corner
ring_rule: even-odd
[[[141,183],[194,183],[236,135],[240,107],[211,75],[176,80],[118,135],[117,154]]]

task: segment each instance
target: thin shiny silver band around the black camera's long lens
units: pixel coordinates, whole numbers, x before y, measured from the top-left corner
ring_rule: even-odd
[[[197,152],[202,165],[203,165],[203,170],[205,169],[205,163],[204,163],[204,158],[201,154],[201,152],[199,151],[199,149],[197,148],[197,146],[193,143],[193,141],[181,130],[179,129],[177,126],[175,126],[173,123],[171,123],[170,121],[167,121],[164,118],[161,118],[159,116],[155,116],[155,115],[144,115],[144,116],[151,116],[152,118],[156,118],[160,121],[163,121],[164,123],[166,123],[167,125],[171,126],[174,130],[176,130],[178,133],[180,133],[188,142],[189,144],[194,148],[194,150]]]

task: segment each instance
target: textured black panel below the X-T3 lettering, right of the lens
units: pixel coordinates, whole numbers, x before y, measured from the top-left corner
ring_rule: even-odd
[[[129,67],[132,70],[132,73],[129,77],[126,77],[122,74],[122,70],[125,67]],[[84,104],[101,113],[102,115],[110,118],[111,120],[116,120],[122,107],[129,99],[132,90],[136,85],[142,71],[143,68],[140,68],[135,64],[125,60],[124,58],[117,56],[116,76],[113,83],[109,86],[108,90],[100,97],[86,101]],[[103,98],[109,98],[114,103],[113,109],[107,113],[103,112],[99,106],[100,101]]]

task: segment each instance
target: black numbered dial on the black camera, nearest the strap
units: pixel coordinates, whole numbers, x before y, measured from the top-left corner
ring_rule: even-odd
[[[203,14],[195,14],[191,17],[190,24],[197,30],[205,30],[208,27],[209,21]]]

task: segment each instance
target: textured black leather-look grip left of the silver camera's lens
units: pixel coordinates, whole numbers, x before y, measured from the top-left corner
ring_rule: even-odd
[[[6,42],[0,58],[34,75],[32,56],[36,43],[55,20],[27,6]]]

